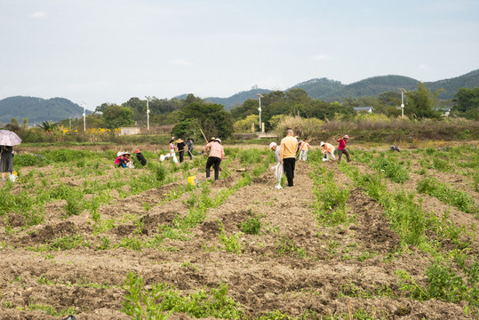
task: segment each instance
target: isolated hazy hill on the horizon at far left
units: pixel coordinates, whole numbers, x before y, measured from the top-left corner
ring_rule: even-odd
[[[57,122],[68,117],[82,117],[84,108],[64,98],[44,100],[35,97],[10,97],[0,100],[0,123],[8,124],[15,117],[21,124],[23,118],[28,119],[28,124],[40,124],[42,121]],[[92,111],[86,110],[86,114]]]

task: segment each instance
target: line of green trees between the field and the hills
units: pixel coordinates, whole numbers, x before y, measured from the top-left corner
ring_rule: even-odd
[[[479,88],[460,88],[453,100],[438,100],[442,90],[431,92],[423,83],[419,83],[416,91],[404,94],[404,115],[410,118],[436,118],[443,115],[442,108],[451,108],[450,116],[460,116],[467,119],[479,120]],[[354,107],[372,107],[374,113],[388,117],[401,115],[400,92],[383,92],[378,97],[348,98],[340,103],[315,100],[300,88],[288,92],[275,91],[263,94],[261,98],[261,122],[267,131],[275,130],[282,116],[301,116],[320,120],[352,119],[356,113]],[[255,130],[259,129],[259,100],[245,100],[230,111],[226,111],[220,104],[204,101],[193,94],[186,99],[158,99],[151,97],[148,100],[150,110],[150,126],[174,124],[172,134],[176,136],[198,135],[200,129],[206,136],[228,138],[233,132],[251,131],[251,124]],[[147,100],[131,98],[121,105],[103,103],[95,109],[92,115],[87,116],[88,127],[116,129],[124,126],[146,126]],[[60,121],[58,125],[68,127],[68,119]],[[23,119],[22,126],[26,126],[27,119]],[[12,126],[19,126],[18,121],[12,118]],[[76,118],[71,124],[73,127],[83,128],[83,118]]]

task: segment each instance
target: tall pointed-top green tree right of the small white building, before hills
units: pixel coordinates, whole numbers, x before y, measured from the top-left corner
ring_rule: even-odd
[[[439,89],[434,93],[426,88],[426,84],[419,82],[418,91],[406,93],[404,114],[417,116],[418,118],[439,118],[441,114],[435,111],[437,95],[442,92]]]

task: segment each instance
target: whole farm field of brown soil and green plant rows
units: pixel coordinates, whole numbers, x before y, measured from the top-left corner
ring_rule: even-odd
[[[227,146],[214,183],[200,155],[22,148],[0,319],[479,318],[478,148],[352,148],[310,151],[281,190],[265,147]]]

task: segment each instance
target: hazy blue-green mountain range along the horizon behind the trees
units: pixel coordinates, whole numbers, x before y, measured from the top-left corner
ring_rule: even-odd
[[[300,88],[316,100],[328,102],[341,101],[346,98],[358,98],[362,96],[379,96],[382,92],[398,92],[399,88],[406,91],[415,91],[418,88],[419,80],[408,76],[373,76],[353,84],[341,84],[336,80],[316,78],[307,80],[288,88]],[[450,79],[439,80],[435,82],[426,82],[427,89],[435,92],[443,89],[438,95],[439,99],[453,99],[459,88],[479,87],[479,69],[471,71],[465,75],[453,77]],[[268,89],[259,89],[253,87],[249,91],[238,92],[228,98],[210,97],[204,100],[218,103],[227,110],[243,104],[248,99],[258,99],[257,94],[273,92]],[[185,99],[186,94],[175,97],[176,99]],[[28,118],[28,124],[39,124],[42,121],[57,122],[83,116],[84,108],[65,98],[52,98],[44,100],[35,97],[10,97],[0,100],[0,123],[10,123],[12,117],[15,117],[19,123],[23,118]],[[92,111],[86,110],[86,114],[92,114]]]

